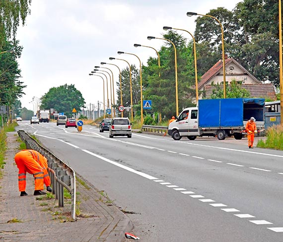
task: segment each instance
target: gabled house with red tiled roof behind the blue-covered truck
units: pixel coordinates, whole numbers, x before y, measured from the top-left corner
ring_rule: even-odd
[[[226,82],[230,83],[232,80],[241,81],[242,88],[250,92],[250,97],[268,98],[276,100],[276,93],[273,84],[263,84],[250,74],[239,62],[234,58],[227,58],[225,55],[225,69]],[[223,62],[219,60],[208,72],[206,72],[198,83],[199,93],[204,92],[199,96],[210,98],[213,87],[211,84],[223,84]]]

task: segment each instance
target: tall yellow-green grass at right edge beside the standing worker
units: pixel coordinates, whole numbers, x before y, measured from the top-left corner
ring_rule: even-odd
[[[283,125],[274,125],[267,130],[266,141],[259,140],[257,147],[283,151]]]

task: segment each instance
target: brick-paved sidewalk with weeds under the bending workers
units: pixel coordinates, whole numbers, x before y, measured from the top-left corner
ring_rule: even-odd
[[[8,150],[4,175],[0,179],[0,242],[123,242],[133,229],[130,219],[118,208],[107,205],[93,186],[77,182],[80,215],[71,220],[70,204],[58,207],[55,199],[33,196],[33,177],[27,174],[28,196],[20,197],[18,168],[14,156],[19,151],[16,132],[7,133]],[[80,179],[82,179],[80,177]],[[42,196],[46,197],[46,196]],[[9,223],[9,222],[10,223]]]

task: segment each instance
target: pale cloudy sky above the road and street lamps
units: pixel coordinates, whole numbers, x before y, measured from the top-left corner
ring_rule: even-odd
[[[162,40],[146,37],[161,37],[163,26],[194,33],[196,17],[188,17],[187,11],[206,14],[216,7],[232,10],[239,1],[33,0],[31,15],[17,33],[24,47],[19,60],[21,80],[27,85],[26,94],[20,98],[22,107],[33,110],[33,96],[40,98],[51,87],[66,83],[74,84],[88,106],[103,102],[102,80],[88,76],[94,66],[107,62],[120,69],[127,67],[126,62],[110,61],[109,57],[139,66],[135,56],[118,55],[117,51],[134,53],[146,63],[156,53],[150,48],[135,48],[135,43],[159,50]],[[190,39],[185,32],[182,35]],[[113,71],[114,83],[119,80],[118,68],[104,67]]]

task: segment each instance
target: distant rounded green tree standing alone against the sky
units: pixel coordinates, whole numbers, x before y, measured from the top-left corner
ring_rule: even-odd
[[[73,84],[52,87],[40,99],[40,109],[54,108],[57,112],[64,112],[68,117],[72,116],[73,108],[79,111],[85,104],[81,92]]]

